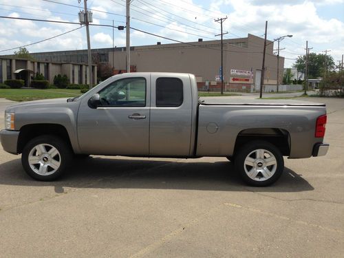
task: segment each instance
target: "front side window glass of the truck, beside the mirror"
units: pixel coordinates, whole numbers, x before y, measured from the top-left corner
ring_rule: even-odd
[[[114,81],[98,93],[102,106],[145,107],[146,92],[144,78],[125,78]]]

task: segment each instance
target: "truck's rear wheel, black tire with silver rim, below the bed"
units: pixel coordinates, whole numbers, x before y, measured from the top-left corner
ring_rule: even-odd
[[[265,141],[248,142],[235,155],[235,171],[250,186],[269,186],[284,169],[283,155]]]

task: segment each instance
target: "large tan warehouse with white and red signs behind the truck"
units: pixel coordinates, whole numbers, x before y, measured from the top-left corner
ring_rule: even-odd
[[[186,72],[197,76],[200,89],[219,89],[221,41],[173,43],[132,47],[131,70],[134,72]],[[248,34],[247,38],[224,40],[224,82],[226,90],[257,91],[260,87],[264,39]],[[118,51],[120,50],[120,51]],[[126,52],[109,51],[109,63],[115,73],[125,72]],[[279,58],[279,83],[283,78],[284,58]],[[266,45],[264,85],[269,90],[277,84],[277,56],[273,42]]]

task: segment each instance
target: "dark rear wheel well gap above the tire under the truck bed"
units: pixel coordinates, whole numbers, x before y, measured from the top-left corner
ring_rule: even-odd
[[[290,134],[279,128],[251,128],[240,131],[235,140],[234,153],[252,140],[265,140],[275,145],[283,156],[290,155]]]

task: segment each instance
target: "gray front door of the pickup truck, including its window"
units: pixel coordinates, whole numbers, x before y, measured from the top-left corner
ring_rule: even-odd
[[[122,78],[100,89],[100,103],[88,98],[78,111],[78,142],[83,153],[149,154],[150,76]]]

